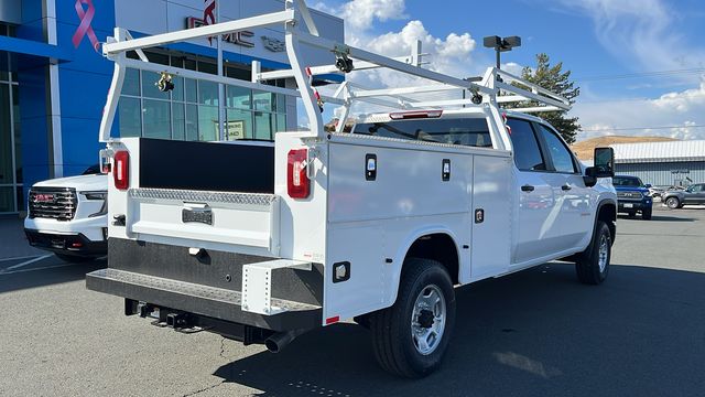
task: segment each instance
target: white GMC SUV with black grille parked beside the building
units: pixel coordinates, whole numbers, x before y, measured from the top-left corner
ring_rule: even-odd
[[[97,165],[83,175],[35,183],[24,219],[30,245],[74,262],[106,255],[107,191],[108,178]]]

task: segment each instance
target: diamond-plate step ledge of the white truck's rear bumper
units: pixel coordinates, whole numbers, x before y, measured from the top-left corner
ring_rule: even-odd
[[[278,332],[314,329],[322,323],[318,305],[271,298],[272,305],[280,311],[272,315],[258,314],[242,310],[239,291],[112,268],[86,275],[86,287],[156,307]]]

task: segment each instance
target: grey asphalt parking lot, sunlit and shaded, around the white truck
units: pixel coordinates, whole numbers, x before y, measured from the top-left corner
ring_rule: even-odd
[[[383,373],[349,323],[275,355],[126,318],[120,298],[85,289],[105,261],[21,244],[0,243],[2,396],[705,395],[705,208],[620,217],[599,287],[556,262],[459,289],[445,364],[415,382]]]

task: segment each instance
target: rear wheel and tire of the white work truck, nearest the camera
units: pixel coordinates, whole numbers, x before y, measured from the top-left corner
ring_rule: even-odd
[[[408,378],[436,371],[455,325],[455,291],[443,265],[406,259],[397,302],[372,313],[370,325],[382,368]]]

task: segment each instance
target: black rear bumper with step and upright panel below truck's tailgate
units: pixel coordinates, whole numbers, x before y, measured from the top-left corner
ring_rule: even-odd
[[[323,266],[272,273],[272,304],[265,315],[242,310],[242,267],[272,258],[225,251],[188,254],[187,247],[110,238],[108,268],[86,275],[86,288],[158,309],[285,332],[322,324]],[[132,314],[132,313],[128,313]]]

